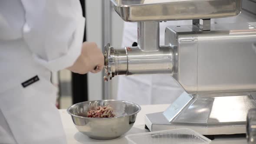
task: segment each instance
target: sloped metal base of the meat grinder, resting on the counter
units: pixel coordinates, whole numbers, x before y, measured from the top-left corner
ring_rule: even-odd
[[[203,135],[244,134],[251,108],[256,108],[251,95],[197,97],[171,122],[158,112],[146,115],[145,124],[150,131],[190,128]]]

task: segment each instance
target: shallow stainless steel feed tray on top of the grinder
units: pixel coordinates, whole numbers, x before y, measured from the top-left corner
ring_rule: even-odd
[[[111,0],[125,21],[210,19],[236,16],[242,0]]]

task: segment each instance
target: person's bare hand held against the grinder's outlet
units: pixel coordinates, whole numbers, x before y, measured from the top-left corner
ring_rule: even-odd
[[[97,68],[97,69],[95,69]],[[96,43],[84,42],[81,55],[68,69],[72,72],[85,74],[88,72],[97,73],[104,68],[104,56]]]

